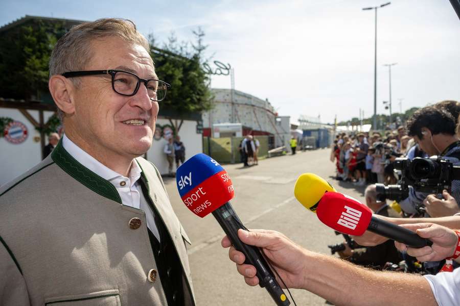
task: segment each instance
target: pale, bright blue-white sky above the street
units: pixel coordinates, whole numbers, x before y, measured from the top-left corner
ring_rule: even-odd
[[[78,20],[123,17],[166,41],[204,30],[207,56],[230,63],[235,88],[268,98],[280,115],[323,122],[374,112],[374,11],[387,1],[10,1],[0,24],[27,15]],[[460,100],[460,22],[448,0],[396,0],[378,11],[377,111],[387,113],[392,67],[393,110]],[[212,86],[229,88],[229,77]]]

